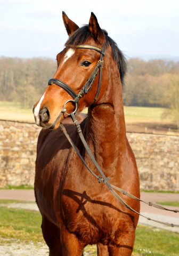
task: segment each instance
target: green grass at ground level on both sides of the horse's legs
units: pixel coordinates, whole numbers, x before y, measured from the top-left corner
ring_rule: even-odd
[[[14,202],[14,201],[13,201]],[[2,203],[2,202],[0,202]],[[0,210],[0,244],[8,239],[17,239],[17,242],[42,242],[41,215],[22,209]],[[18,240],[19,239],[19,240]],[[133,256],[177,256],[179,252],[179,234],[139,225],[136,229],[136,238]],[[85,251],[96,255],[96,246],[88,245]]]

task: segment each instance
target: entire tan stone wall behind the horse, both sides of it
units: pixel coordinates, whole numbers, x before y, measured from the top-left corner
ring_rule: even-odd
[[[0,187],[34,184],[35,124],[0,121]],[[127,133],[140,173],[141,189],[179,191],[179,137]]]

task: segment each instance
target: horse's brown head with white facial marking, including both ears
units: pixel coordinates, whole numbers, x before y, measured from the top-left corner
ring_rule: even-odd
[[[52,82],[48,83],[42,97],[33,109],[36,124],[53,130],[58,128],[62,118],[67,117],[67,114],[63,111],[63,106],[68,100],[70,101],[65,105],[66,112],[71,113],[75,109],[73,101],[75,97],[72,97],[72,94],[67,92],[68,90],[64,90],[53,81],[60,81],[68,88],[70,87],[75,94],[78,94],[99,62],[102,55],[102,50],[101,52],[99,50],[103,49],[105,43],[104,32],[100,28],[94,13],[91,13],[89,24],[82,28],[71,21],[66,13],[63,12],[62,17],[69,38],[65,44],[66,47],[56,56],[58,68],[53,79],[51,79]],[[83,46],[83,44],[90,45],[99,50],[78,47],[79,44],[80,46]],[[104,65],[103,80],[105,79],[105,66],[107,64]],[[89,86],[89,92],[86,93],[87,90],[85,90],[83,97],[80,96],[78,111],[82,111],[94,101],[98,84],[99,74],[94,79],[93,86]],[[105,86],[102,87],[100,96],[104,91]],[[100,97],[95,100],[95,103],[99,101]],[[60,113],[61,115],[59,115]]]

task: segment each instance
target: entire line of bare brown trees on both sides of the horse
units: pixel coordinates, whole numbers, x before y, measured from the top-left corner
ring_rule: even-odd
[[[0,101],[32,107],[56,67],[47,58],[0,58]],[[179,61],[129,59],[123,99],[125,106],[165,107],[179,127]]]

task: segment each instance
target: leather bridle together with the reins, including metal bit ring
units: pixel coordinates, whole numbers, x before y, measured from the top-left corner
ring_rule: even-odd
[[[66,45],[66,46],[70,46],[70,45]],[[74,46],[71,46],[71,47],[74,47]],[[98,179],[99,183],[103,182],[105,185],[107,185],[107,187],[109,188],[109,190],[111,191],[111,193],[118,199],[118,201],[123,204],[124,206],[126,206],[129,210],[141,215],[142,217],[148,219],[148,220],[152,220],[152,221],[155,221],[155,222],[158,222],[158,223],[161,223],[163,225],[167,225],[167,226],[171,226],[171,227],[179,227],[179,225],[174,225],[173,223],[167,223],[167,222],[162,222],[162,221],[158,221],[158,220],[153,220],[151,218],[148,218],[148,217],[145,217],[144,215],[140,214],[139,212],[135,211],[134,209],[132,209],[131,206],[129,206],[128,204],[126,204],[126,202],[113,190],[113,189],[116,189],[118,190],[120,193],[123,193],[124,195],[128,196],[128,197],[131,197],[137,201],[140,201],[140,202],[143,202],[145,204],[148,204],[149,206],[153,206],[153,207],[156,207],[158,209],[161,209],[161,210],[166,210],[166,211],[172,211],[172,212],[179,212],[179,210],[170,210],[170,209],[167,209],[165,207],[162,207],[160,205],[157,205],[157,204],[153,204],[152,202],[146,202],[146,201],[142,201],[140,198],[137,198],[135,196],[133,196],[132,194],[128,193],[127,191],[125,191],[124,189],[121,189],[121,188],[118,188],[116,186],[113,186],[109,183],[109,177],[105,177],[103,171],[101,170],[100,166],[97,164],[93,154],[91,153],[91,150],[90,148],[88,147],[86,141],[85,141],[85,138],[83,136],[83,133],[82,133],[82,130],[80,128],[80,124],[78,123],[77,119],[76,119],[76,115],[77,115],[77,110],[78,110],[78,101],[80,98],[83,97],[83,95],[85,93],[87,93],[88,91],[90,91],[93,83],[94,83],[94,79],[100,69],[100,75],[99,75],[99,83],[98,83],[98,86],[97,86],[97,92],[96,92],[96,96],[93,100],[93,102],[90,104],[92,105],[96,100],[97,100],[97,97],[99,96],[99,93],[100,93],[100,88],[101,88],[101,77],[102,77],[102,69],[103,69],[103,57],[105,55],[105,43],[104,43],[104,46],[103,46],[103,50],[101,50],[100,48],[96,47],[96,46],[93,46],[93,45],[78,45],[78,46],[75,46],[76,48],[82,48],[82,49],[91,49],[91,50],[95,50],[95,51],[98,51],[101,53],[101,57],[100,57],[100,60],[97,62],[94,70],[92,71],[92,74],[90,75],[90,77],[87,79],[87,82],[84,84],[84,86],[82,87],[82,89],[80,90],[80,92],[78,94],[76,94],[74,92],[74,90],[72,90],[66,83],[62,82],[61,80],[59,79],[50,79],[48,81],[48,85],[52,85],[52,84],[56,84],[60,87],[62,87],[64,90],[66,90],[70,95],[71,97],[74,99],[74,100],[68,100],[67,102],[69,101],[72,101],[75,103],[76,107],[75,107],[75,110],[73,112],[71,112],[70,114],[67,113],[67,109],[65,108],[65,105],[67,104],[64,103],[64,106],[63,106],[63,109],[61,110],[61,113],[59,115],[59,117],[63,114],[63,113],[66,113],[67,115],[70,115],[72,121],[74,122],[74,125],[76,126],[76,129],[77,129],[77,132],[79,134],[79,137],[80,139],[82,140],[82,143],[88,153],[88,155],[91,157],[93,163],[95,164],[97,170],[99,170],[101,176],[97,176],[91,169],[90,167],[87,166],[87,164],[85,163],[83,157],[80,155],[78,149],[76,148],[74,142],[71,140],[69,134],[67,133],[66,131],[66,128],[63,126],[62,123],[60,123],[60,128],[61,130],[63,131],[64,135],[66,136],[66,138],[68,139],[68,141],[70,142],[71,146],[75,149],[77,155],[79,156],[79,158],[82,160],[82,162],[84,163],[84,165],[86,166],[86,168],[88,169],[88,171],[90,171],[94,176],[95,178]],[[89,106],[90,106],[89,105]]]

